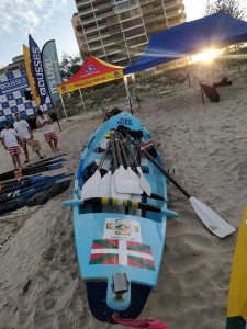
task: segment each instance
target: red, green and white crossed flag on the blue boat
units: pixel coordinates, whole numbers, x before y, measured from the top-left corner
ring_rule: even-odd
[[[150,246],[114,239],[93,240],[89,264],[125,265],[155,271]]]

